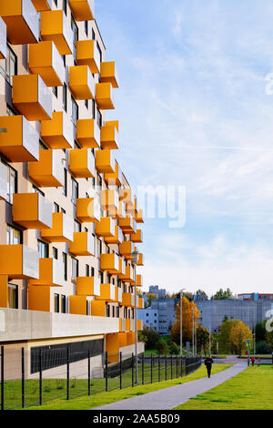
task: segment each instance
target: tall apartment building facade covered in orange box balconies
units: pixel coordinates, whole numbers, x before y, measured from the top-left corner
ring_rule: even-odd
[[[0,16],[0,343],[132,352],[143,216],[94,0],[1,0]]]

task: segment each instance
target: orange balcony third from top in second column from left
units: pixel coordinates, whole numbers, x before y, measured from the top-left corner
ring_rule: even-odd
[[[49,148],[72,148],[73,132],[72,121],[62,111],[53,112],[51,120],[41,122],[41,138]]]

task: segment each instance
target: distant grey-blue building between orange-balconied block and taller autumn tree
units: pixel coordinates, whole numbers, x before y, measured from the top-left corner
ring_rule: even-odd
[[[143,325],[153,327],[159,334],[166,336],[176,321],[178,301],[179,299],[155,299],[148,308],[137,310],[137,318],[143,321]]]

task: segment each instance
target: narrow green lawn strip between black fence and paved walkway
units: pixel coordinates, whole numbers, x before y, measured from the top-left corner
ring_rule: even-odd
[[[214,364],[214,373],[222,372],[228,369],[231,365],[232,364],[223,363]],[[116,389],[111,392],[98,392],[94,393],[91,396],[84,395],[70,401],[66,401],[66,398],[63,397],[53,400],[51,402],[44,403],[42,406],[28,407],[27,410],[88,410],[103,404],[114,403],[119,400],[124,400],[135,395],[142,395],[147,392],[165,389],[180,383],[194,381],[205,376],[207,376],[207,371],[204,364],[197,370],[197,372],[191,373],[187,377],[177,378],[168,381],[157,382],[157,375],[156,373],[154,373],[153,378],[155,383],[139,385],[135,386],[134,388],[129,386],[126,389]],[[141,372],[139,373],[139,380],[141,380]]]

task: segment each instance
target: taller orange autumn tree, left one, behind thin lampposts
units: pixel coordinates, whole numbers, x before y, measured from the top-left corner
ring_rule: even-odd
[[[170,331],[170,338],[172,341],[175,341],[177,344],[180,343],[180,304],[181,300],[178,302],[176,307],[176,321],[173,323],[172,329]],[[182,340],[183,343],[186,341],[192,341],[192,321],[193,321],[193,313],[192,309],[194,309],[194,317],[197,321],[200,316],[200,312],[197,310],[197,306],[194,301],[188,301],[185,296],[182,299]]]

